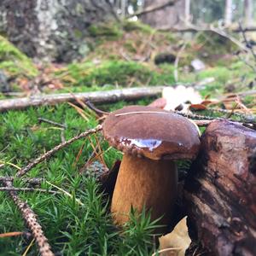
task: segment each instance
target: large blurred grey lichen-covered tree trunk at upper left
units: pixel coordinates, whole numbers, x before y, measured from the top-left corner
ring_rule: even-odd
[[[106,20],[106,0],[1,0],[0,32],[26,55],[71,61],[86,53],[88,27]]]

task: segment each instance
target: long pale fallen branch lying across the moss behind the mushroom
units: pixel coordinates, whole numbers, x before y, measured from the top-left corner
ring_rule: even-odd
[[[93,91],[81,93],[61,93],[30,96],[0,101],[0,112],[10,109],[55,105],[62,102],[90,101],[95,103],[111,103],[120,100],[135,101],[143,97],[159,96],[163,86],[128,88],[120,90]]]

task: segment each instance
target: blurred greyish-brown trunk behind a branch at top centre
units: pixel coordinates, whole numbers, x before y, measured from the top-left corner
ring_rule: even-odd
[[[167,0],[145,0],[144,9],[167,2]],[[159,9],[141,17],[144,23],[156,28],[180,26],[185,20],[185,1],[179,0],[172,6],[166,6],[164,9]]]

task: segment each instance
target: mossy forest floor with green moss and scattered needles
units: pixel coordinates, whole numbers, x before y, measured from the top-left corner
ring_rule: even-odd
[[[6,82],[2,83],[0,98],[41,92],[184,84],[198,90],[202,100],[217,99],[214,108],[256,113],[255,93],[241,94],[231,102],[223,100],[256,88],[253,70],[256,60],[249,53],[237,53],[239,47],[229,38],[214,32],[198,32],[182,38],[131,22],[122,27],[113,24],[91,27],[90,33],[88,54],[84,60],[71,64],[37,64],[6,39],[0,38],[0,70]],[[195,60],[203,63],[201,70],[195,71],[191,66],[191,61]],[[127,104],[146,105],[151,101],[121,101],[97,107],[110,112]],[[226,116],[212,114],[211,109],[201,113]],[[62,126],[44,123],[40,118]],[[96,114],[89,108],[77,108],[69,103],[1,113],[0,176],[15,176],[20,167],[38,155],[63,140],[96,127],[98,122]],[[26,175],[44,178],[40,188],[46,191],[19,192],[19,195],[38,214],[55,253],[151,255],[156,251],[152,242],[155,224],[150,222],[149,216],[143,214],[140,220],[131,218],[125,230],[115,228],[108,212],[108,197],[100,191],[96,177],[88,174],[88,170],[94,168],[93,164],[111,168],[121,157],[122,154],[109,147],[101,133],[97,133],[62,149]],[[17,179],[15,186],[23,188],[26,183]],[[49,190],[60,194],[52,195]],[[7,193],[0,192],[0,198],[0,234],[29,232]],[[35,255],[37,247],[31,237],[0,238],[0,255],[20,255],[30,244],[32,247],[27,255]]]

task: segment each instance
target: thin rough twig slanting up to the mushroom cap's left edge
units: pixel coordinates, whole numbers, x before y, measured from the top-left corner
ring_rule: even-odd
[[[23,176],[24,174],[26,174],[26,172],[30,171],[34,166],[37,166],[42,161],[48,159],[51,155],[55,154],[61,148],[67,147],[69,144],[71,144],[71,143],[73,143],[73,142],[75,142],[75,141],[77,141],[77,140],[79,140],[83,137],[87,137],[88,135],[90,135],[92,133],[95,133],[97,131],[101,131],[101,130],[102,130],[102,125],[97,125],[96,128],[90,129],[88,131],[84,131],[84,132],[80,133],[78,136],[75,136],[75,137],[71,138],[67,142],[61,143],[61,144],[55,146],[55,148],[50,149],[45,154],[39,156],[37,159],[32,160],[32,162],[30,164],[28,164],[27,166],[21,168],[20,171],[17,172],[16,177]]]

